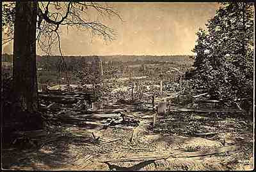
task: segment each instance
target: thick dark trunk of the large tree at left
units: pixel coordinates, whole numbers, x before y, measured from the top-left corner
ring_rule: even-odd
[[[13,89],[15,109],[38,110],[36,80],[36,1],[16,1],[13,41]]]

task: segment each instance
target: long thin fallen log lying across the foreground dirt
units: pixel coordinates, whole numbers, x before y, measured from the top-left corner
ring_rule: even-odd
[[[106,162],[133,162],[133,161],[156,161],[161,159],[169,159],[169,158],[186,158],[186,157],[202,157],[206,155],[214,155],[214,154],[221,154],[223,152],[229,152],[236,150],[237,147],[235,146],[228,146],[228,147],[221,147],[221,148],[214,148],[213,150],[209,150],[207,152],[204,151],[196,151],[196,152],[185,152],[180,154],[169,154],[169,155],[163,155],[163,156],[152,156],[152,157],[132,157],[132,158],[126,158],[126,159],[108,159],[105,161],[99,161],[102,163]],[[152,154],[154,155],[154,154]]]

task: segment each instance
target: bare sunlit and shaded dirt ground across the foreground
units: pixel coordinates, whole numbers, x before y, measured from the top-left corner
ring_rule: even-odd
[[[125,104],[124,104],[125,106]],[[4,149],[4,169],[33,170],[252,170],[253,122],[234,115],[172,113],[159,117],[152,126],[154,111],[127,111],[140,120],[131,141],[132,127],[61,125],[48,129],[42,138],[56,136],[41,147]],[[198,136],[195,133],[215,133]],[[92,133],[95,135],[95,140]],[[136,134],[135,134],[136,133]],[[54,137],[53,137],[54,138]],[[234,145],[236,150],[199,157],[169,157],[156,161],[103,162],[108,159],[157,157],[188,152],[209,152]],[[108,142],[111,140],[120,139]]]

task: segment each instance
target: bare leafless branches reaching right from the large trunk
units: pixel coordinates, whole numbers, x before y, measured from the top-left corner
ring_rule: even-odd
[[[52,46],[58,47],[58,52],[61,55],[61,59],[56,64],[59,74],[61,66],[66,70],[67,64],[63,58],[61,52],[61,39],[60,39],[60,25],[67,27],[76,27],[79,31],[90,31],[92,38],[94,35],[102,36],[105,41],[111,41],[115,39],[116,32],[108,25],[103,24],[99,20],[90,20],[88,17],[89,8],[94,10],[100,17],[111,17],[117,16],[121,21],[122,17],[117,11],[113,10],[108,5],[104,6],[102,3],[88,3],[88,2],[41,2],[40,6],[38,3],[38,35],[36,40],[38,46],[47,54],[51,54]],[[93,13],[93,11],[92,11]]]

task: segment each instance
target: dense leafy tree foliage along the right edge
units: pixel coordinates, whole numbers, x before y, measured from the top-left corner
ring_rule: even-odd
[[[222,3],[206,26],[207,31],[196,33],[189,88],[210,92],[212,99],[241,103],[246,110],[252,108],[253,4]]]

